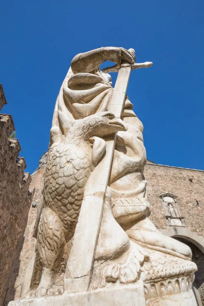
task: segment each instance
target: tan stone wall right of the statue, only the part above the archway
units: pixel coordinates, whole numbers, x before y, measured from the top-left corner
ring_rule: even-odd
[[[147,197],[151,204],[150,220],[158,229],[166,229],[167,221],[161,194],[177,196],[177,206],[191,232],[204,235],[204,171],[147,164]]]

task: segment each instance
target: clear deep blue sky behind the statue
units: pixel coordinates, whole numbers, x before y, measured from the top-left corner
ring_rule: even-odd
[[[31,173],[47,149],[55,100],[71,59],[100,46],[136,50],[128,94],[147,158],[204,169],[204,2],[3,1],[0,83]]]

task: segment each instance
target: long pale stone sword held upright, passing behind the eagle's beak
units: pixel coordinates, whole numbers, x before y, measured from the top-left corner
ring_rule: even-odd
[[[135,53],[134,49],[129,49],[129,51]],[[118,71],[109,106],[109,111],[116,117],[120,118],[122,113],[131,70],[150,67],[151,65],[151,62],[135,63],[133,65],[122,63],[120,67],[115,65],[103,70],[104,72]],[[65,271],[65,293],[83,292],[89,288],[106,189],[113,160],[116,134],[106,138],[106,156],[93,170],[85,187],[84,199]]]

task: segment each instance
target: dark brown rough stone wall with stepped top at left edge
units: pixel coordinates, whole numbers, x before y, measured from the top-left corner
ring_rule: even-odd
[[[0,109],[6,104],[0,85]],[[28,218],[32,193],[31,177],[17,139],[9,138],[14,131],[11,115],[0,114],[0,305],[3,305],[16,251]]]

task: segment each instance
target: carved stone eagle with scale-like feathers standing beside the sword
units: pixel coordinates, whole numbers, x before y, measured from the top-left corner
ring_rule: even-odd
[[[66,243],[74,234],[86,182],[106,149],[106,142],[99,137],[125,131],[126,126],[113,114],[100,112],[78,120],[62,142],[56,130],[51,130],[44,174],[45,207],[38,226],[32,279],[33,287],[39,285],[37,296],[46,294],[63,271]]]

